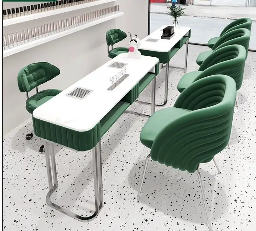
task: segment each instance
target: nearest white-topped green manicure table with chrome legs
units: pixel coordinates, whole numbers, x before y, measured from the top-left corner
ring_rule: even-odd
[[[126,74],[120,75],[123,77],[113,84],[113,76],[124,68]],[[103,207],[101,137],[123,113],[133,113],[126,109],[150,82],[151,114],[154,113],[155,77],[158,73],[158,58],[141,56],[141,59],[131,59],[127,53],[120,54],[33,111],[34,133],[45,142],[49,183],[46,201],[50,207],[81,222],[88,222],[99,214]],[[74,151],[92,150],[95,192],[93,215],[82,217],[50,200],[58,187],[55,143]]]

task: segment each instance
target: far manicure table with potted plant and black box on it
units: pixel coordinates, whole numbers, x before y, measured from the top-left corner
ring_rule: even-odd
[[[158,107],[165,106],[168,98],[168,80],[169,80],[169,65],[171,58],[177,53],[178,50],[186,43],[186,53],[185,53],[185,66],[184,68],[171,66],[172,68],[183,69],[184,72],[187,71],[187,60],[188,60],[188,40],[191,35],[190,27],[185,26],[175,26],[174,35],[170,39],[161,39],[163,35],[163,29],[167,27],[161,26],[158,30],[154,31],[147,37],[141,40],[139,51],[141,55],[147,55],[159,58],[159,62],[166,64],[166,74],[165,74],[165,99],[163,104],[156,104]],[[146,105],[151,105],[151,103],[138,101]]]

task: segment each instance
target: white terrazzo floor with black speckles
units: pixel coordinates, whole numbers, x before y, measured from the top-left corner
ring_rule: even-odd
[[[197,70],[195,58],[207,47],[189,45],[188,72]],[[183,65],[185,46],[174,56]],[[183,72],[170,69],[169,102],[178,96]],[[163,99],[165,69],[157,77],[157,99]],[[254,231],[256,227],[256,53],[249,52],[244,81],[235,108],[231,149],[201,165],[201,175],[214,231]],[[140,95],[150,100],[151,87]],[[150,113],[134,103],[131,109]],[[159,110],[159,109],[157,109]],[[3,140],[3,229],[22,231],[207,231],[206,215],[196,174],[150,160],[140,202],[136,202],[144,160],[149,150],[139,141],[147,119],[124,114],[102,138],[104,207],[98,217],[81,223],[46,204],[48,181],[42,141],[24,136],[32,121],[22,123]],[[91,152],[75,153],[56,146],[59,187],[52,200],[86,216],[94,208]]]

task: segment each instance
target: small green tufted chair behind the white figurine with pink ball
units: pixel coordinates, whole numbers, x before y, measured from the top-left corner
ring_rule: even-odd
[[[106,32],[107,40],[107,52],[109,58],[115,58],[121,53],[127,53],[129,50],[127,47],[116,47],[113,49],[114,44],[125,39],[127,35],[120,29],[111,29]],[[111,50],[109,51],[109,46],[111,45]]]

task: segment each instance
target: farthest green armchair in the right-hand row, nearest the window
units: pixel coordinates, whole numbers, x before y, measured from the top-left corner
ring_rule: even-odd
[[[249,31],[251,31],[251,27],[252,27],[252,19],[250,18],[240,18],[237,19],[235,21],[233,21],[232,23],[229,23],[224,29],[223,31],[220,33],[219,37],[214,37],[211,38],[207,45],[208,47],[210,47],[212,49],[212,47],[215,45],[215,43],[220,39],[220,37],[224,34],[226,34],[229,31],[233,31],[239,28],[246,28]]]

